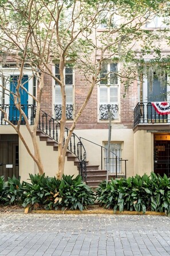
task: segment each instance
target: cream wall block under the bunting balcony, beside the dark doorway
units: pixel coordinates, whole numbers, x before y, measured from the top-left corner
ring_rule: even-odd
[[[153,171],[153,133],[138,130],[134,134],[134,174]]]

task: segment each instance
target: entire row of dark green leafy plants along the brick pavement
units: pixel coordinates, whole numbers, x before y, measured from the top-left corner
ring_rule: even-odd
[[[82,211],[94,202],[114,212],[156,211],[170,215],[170,178],[151,173],[112,180],[108,184],[102,181],[94,193],[79,175],[76,178],[64,175],[62,180],[57,180],[45,174],[30,174],[29,182],[22,183],[15,176],[7,181],[0,177],[0,205],[6,211],[17,206]]]

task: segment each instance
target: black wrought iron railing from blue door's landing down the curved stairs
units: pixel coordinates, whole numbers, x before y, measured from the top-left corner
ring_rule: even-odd
[[[3,120],[4,114],[1,111],[4,110],[7,113],[7,119],[12,122],[14,125],[17,125],[19,118],[19,111],[13,104],[0,104],[0,125],[8,125],[6,121]],[[23,104],[22,109],[25,112],[27,119],[29,120],[30,125],[34,125],[34,118],[36,114],[36,107],[33,104]],[[25,120],[22,118],[21,125],[25,125]],[[54,139],[57,143],[60,138],[60,122],[56,119],[50,117],[47,113],[40,110],[39,113],[39,122],[38,129],[48,135],[50,138]],[[69,134],[69,129],[65,127],[65,139]],[[64,139],[64,143],[65,143]],[[79,172],[86,181],[86,151],[84,145],[80,138],[76,134],[72,134],[70,138],[68,150],[72,152],[78,159],[79,162]]]

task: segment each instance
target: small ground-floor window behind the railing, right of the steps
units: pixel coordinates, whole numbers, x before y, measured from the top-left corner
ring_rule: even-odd
[[[104,147],[108,148],[108,142],[104,143]],[[117,160],[116,160],[117,156]],[[109,172],[122,173],[122,142],[110,142]],[[107,150],[105,150],[105,169],[107,169]]]

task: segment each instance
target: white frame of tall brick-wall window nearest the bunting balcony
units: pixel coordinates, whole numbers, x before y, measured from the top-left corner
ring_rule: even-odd
[[[112,64],[112,63],[110,63],[110,62],[107,63],[107,65],[109,67],[108,73],[110,72],[110,64]],[[118,71],[120,69],[120,67],[119,67],[120,64],[118,64],[118,63],[114,63],[114,64],[117,64],[117,71]],[[114,84],[114,85],[112,85],[112,84],[110,85],[110,74],[108,74],[108,84],[100,84],[100,82],[98,83],[98,91],[97,91],[97,95],[98,95],[98,100],[97,100],[98,101],[98,103],[97,103],[98,122],[109,122],[109,119],[104,119],[104,120],[100,119],[100,110],[99,110],[100,104],[101,104],[101,102],[100,102],[100,87],[107,87],[107,88],[109,88],[108,96],[107,96],[108,102],[107,103],[103,103],[103,104],[112,104],[112,103],[110,103],[110,100],[109,100],[110,99],[110,87],[112,87],[112,88],[113,87],[117,87],[117,102],[114,102],[114,103],[116,103],[118,105],[118,111],[117,111],[117,118],[116,119],[112,119],[112,122],[120,122],[120,79],[119,79],[119,77],[117,76],[117,84]]]

